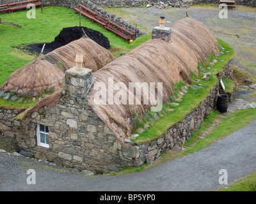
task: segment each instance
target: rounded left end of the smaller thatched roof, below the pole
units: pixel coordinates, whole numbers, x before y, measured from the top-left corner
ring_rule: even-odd
[[[57,64],[51,64],[45,60],[43,54],[38,55],[35,60],[23,68],[18,69],[10,75],[1,86],[5,92],[15,90],[19,96],[40,96],[43,90],[58,90],[63,87],[63,71]]]

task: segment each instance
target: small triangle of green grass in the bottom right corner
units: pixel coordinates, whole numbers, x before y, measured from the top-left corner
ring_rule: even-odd
[[[223,187],[221,191],[256,191],[256,172],[237,180],[230,186]]]

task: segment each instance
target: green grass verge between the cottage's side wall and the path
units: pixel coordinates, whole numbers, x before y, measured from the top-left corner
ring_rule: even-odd
[[[202,135],[202,133],[209,129],[212,125],[212,122],[214,120],[218,119],[218,125],[216,125],[212,131],[209,133],[209,135],[205,136],[204,139],[198,138]],[[243,120],[241,120],[243,119]],[[253,120],[256,120],[256,109],[254,108],[248,108],[244,110],[237,110],[234,113],[230,113],[227,117],[223,118],[220,117],[220,113],[217,110],[213,110],[212,113],[210,113],[206,119],[202,122],[200,125],[200,128],[193,132],[191,135],[191,139],[187,140],[184,144],[185,150],[182,152],[175,152],[173,150],[170,150],[168,152],[164,152],[159,159],[154,164],[143,164],[139,167],[125,167],[124,170],[120,172],[113,172],[107,175],[122,175],[124,173],[135,173],[143,171],[147,168],[152,168],[154,166],[157,166],[159,164],[162,164],[166,161],[170,161],[172,159],[177,159],[183,156],[187,156],[189,154],[193,154],[195,152],[198,152],[205,147],[209,147],[213,143],[215,143],[217,140],[220,140],[222,138],[225,138],[226,136],[238,131],[239,129],[243,128],[244,126],[247,126],[252,122]]]

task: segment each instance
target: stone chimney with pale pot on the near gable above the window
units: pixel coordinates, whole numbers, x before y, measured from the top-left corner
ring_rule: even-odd
[[[82,57],[83,61],[83,57]],[[76,57],[76,66],[65,72],[65,93],[70,94],[81,105],[87,102],[86,96],[93,84],[92,69],[81,67],[81,56],[79,61]]]

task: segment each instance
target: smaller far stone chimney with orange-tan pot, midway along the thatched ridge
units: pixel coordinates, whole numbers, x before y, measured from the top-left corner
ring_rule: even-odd
[[[172,29],[165,27],[165,17],[160,17],[159,26],[154,27],[152,31],[152,39],[161,39],[171,42]]]

